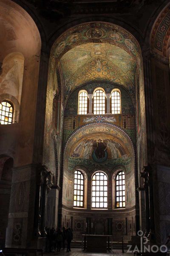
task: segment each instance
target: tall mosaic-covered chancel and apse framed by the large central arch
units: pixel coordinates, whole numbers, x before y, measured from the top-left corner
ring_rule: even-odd
[[[85,232],[101,232],[101,225],[105,234],[114,230],[116,240],[136,234],[134,145],[136,120],[144,122],[142,94],[136,94],[143,88],[141,63],[136,39],[110,23],[77,25],[51,48],[44,163],[55,168],[48,149],[52,152],[50,136],[57,131],[57,183],[62,181],[58,221],[72,226],[77,239]]]

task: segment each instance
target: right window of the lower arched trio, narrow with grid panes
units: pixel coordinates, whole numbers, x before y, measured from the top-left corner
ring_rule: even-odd
[[[125,173],[116,176],[116,208],[125,207]]]

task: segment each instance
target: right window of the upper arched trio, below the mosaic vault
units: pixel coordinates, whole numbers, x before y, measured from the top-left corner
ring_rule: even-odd
[[[114,89],[111,93],[111,113],[112,114],[121,113],[121,99],[120,99],[120,91],[118,89]]]

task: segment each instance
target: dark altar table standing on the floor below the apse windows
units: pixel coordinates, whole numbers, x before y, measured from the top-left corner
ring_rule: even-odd
[[[103,253],[112,250],[111,235],[82,235],[82,248],[88,252]]]

